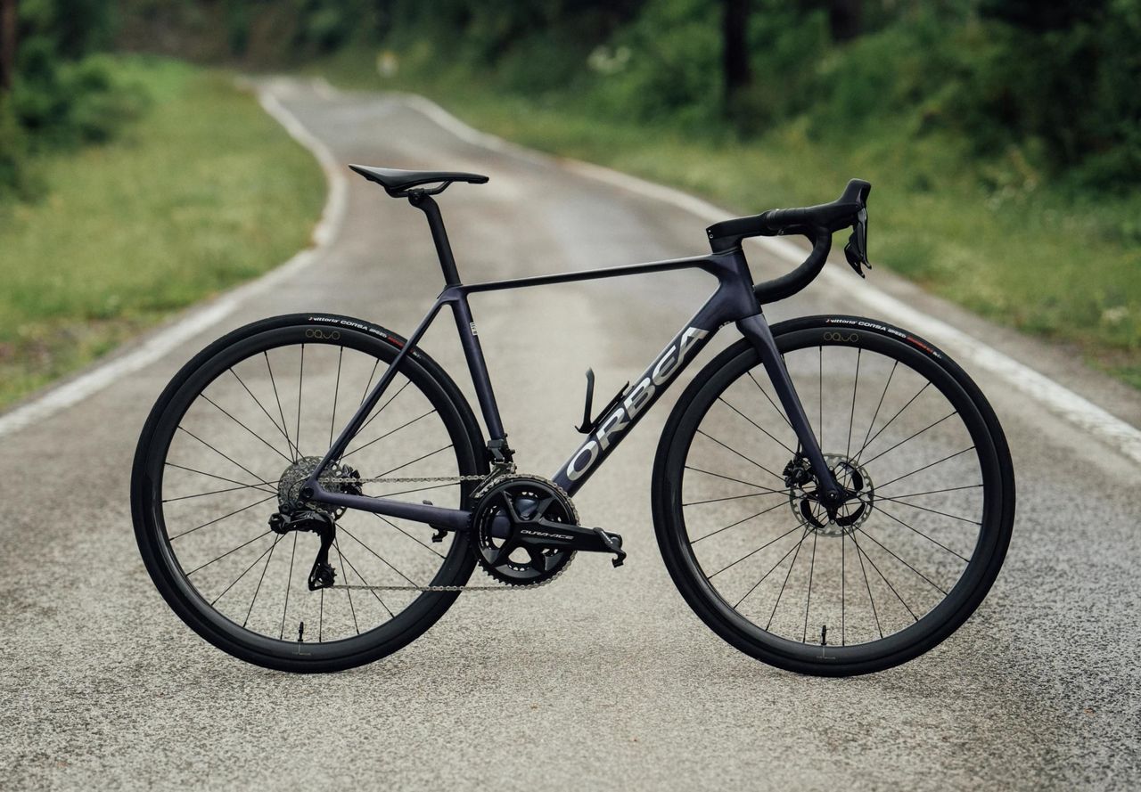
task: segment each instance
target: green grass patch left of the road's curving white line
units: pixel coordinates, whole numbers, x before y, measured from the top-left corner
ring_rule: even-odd
[[[37,163],[0,205],[0,407],[309,242],[325,183],[233,75],[115,59],[149,100],[111,144]]]

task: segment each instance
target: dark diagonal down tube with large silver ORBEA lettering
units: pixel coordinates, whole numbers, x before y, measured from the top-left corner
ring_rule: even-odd
[[[586,480],[593,475],[606,459],[618,447],[630,430],[642,419],[654,402],[665,393],[677,376],[689,365],[698,352],[717,333],[717,324],[706,320],[706,311],[699,311],[689,320],[673,342],[657,356],[642,375],[626,391],[625,398],[604,417],[578,450],[563,465],[555,476],[558,484],[568,495],[574,495]],[[704,329],[702,326],[712,329]]]

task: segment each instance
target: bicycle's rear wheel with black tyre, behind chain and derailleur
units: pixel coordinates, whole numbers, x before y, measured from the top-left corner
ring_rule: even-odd
[[[160,397],[136,452],[136,538],[163,597],[213,645],[269,668],[340,670],[400,648],[455,601],[453,591],[418,589],[467,582],[475,558],[467,532],[434,542],[428,525],[338,513],[329,549],[335,585],[405,588],[309,590],[317,533],[268,524],[402,345],[357,320],[280,317],[219,340]],[[454,384],[416,353],[339,474],[458,479],[486,470],[480,447]],[[365,484],[364,493],[463,507],[470,487],[410,481]]]

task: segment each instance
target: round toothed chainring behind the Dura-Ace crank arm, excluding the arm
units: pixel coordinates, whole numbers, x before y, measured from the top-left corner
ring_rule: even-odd
[[[484,492],[472,513],[476,561],[495,580],[508,586],[535,586],[557,578],[574,558],[574,550],[517,547],[502,557],[515,532],[509,503],[524,519],[544,517],[578,524],[570,497],[553,481],[533,475],[507,475]]]

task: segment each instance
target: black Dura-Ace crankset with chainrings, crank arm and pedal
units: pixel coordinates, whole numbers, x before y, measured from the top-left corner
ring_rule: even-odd
[[[577,524],[578,514],[558,484],[539,476],[496,481],[471,519],[476,561],[509,586],[529,586],[557,577],[577,550],[613,553],[621,566],[622,537]]]

